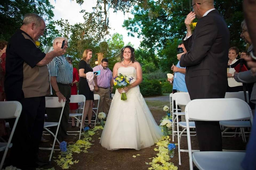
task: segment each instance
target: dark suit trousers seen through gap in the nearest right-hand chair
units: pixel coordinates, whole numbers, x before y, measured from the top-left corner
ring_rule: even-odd
[[[222,151],[219,121],[195,121],[200,151]]]

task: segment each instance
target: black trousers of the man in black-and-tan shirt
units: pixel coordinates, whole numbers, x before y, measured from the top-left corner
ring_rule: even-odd
[[[22,112],[12,138],[12,165],[23,167],[37,161],[45,120],[45,96],[17,100]],[[15,119],[9,121],[11,129]]]

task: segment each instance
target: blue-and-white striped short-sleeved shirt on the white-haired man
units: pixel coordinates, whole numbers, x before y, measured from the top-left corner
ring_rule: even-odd
[[[56,77],[57,83],[70,84],[73,81],[73,66],[62,56],[54,57],[47,64],[51,77]]]

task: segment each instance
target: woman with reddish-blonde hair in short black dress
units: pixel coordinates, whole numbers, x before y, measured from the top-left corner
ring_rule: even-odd
[[[89,84],[87,82],[86,73],[90,72],[90,71],[93,71],[93,69],[89,65],[89,60],[92,57],[92,53],[93,53],[93,51],[91,49],[86,49],[83,52],[83,58],[79,62],[80,80],[79,80],[79,83],[78,83],[79,95],[84,95],[86,97],[85,109],[84,109],[84,112],[83,112],[82,126],[85,127],[85,118],[88,114],[88,126],[91,129],[94,128],[94,126],[91,124],[94,95],[93,95],[93,91],[90,90]]]

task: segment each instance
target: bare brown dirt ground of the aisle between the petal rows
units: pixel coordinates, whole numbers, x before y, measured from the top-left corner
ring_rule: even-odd
[[[159,125],[159,121],[162,116],[165,115],[163,111],[164,105],[169,104],[169,94],[165,94],[163,96],[156,97],[146,97],[145,98],[151,113],[153,114],[157,124]],[[118,121],[118,120],[117,120]],[[71,125],[70,125],[71,126]],[[71,127],[70,127],[71,130]],[[72,128],[73,130],[73,128]],[[151,146],[150,148],[145,148],[139,151],[134,149],[121,149],[115,151],[108,151],[101,147],[99,144],[99,138],[101,137],[102,130],[96,131],[96,134],[92,136],[93,145],[87,151],[88,153],[73,153],[73,159],[79,160],[77,164],[72,165],[69,169],[75,170],[146,170],[150,166],[145,164],[145,162],[151,162],[150,159],[158,152],[154,151],[155,146]],[[73,136],[76,137],[77,136]],[[171,135],[170,135],[171,137]],[[47,138],[47,137],[46,137]],[[191,137],[191,144],[193,149],[198,149],[197,138]],[[174,139],[174,143],[177,143],[177,137]],[[49,144],[49,143],[47,143]],[[242,142],[241,137],[236,138],[223,138],[223,149],[230,150],[245,150],[246,144]],[[187,138],[184,136],[181,139],[181,148],[187,149]],[[57,157],[58,151],[54,153],[54,157]],[[42,157],[48,158],[50,152],[49,151],[40,151],[40,155]],[[140,154],[140,156],[136,156],[133,158],[133,155]],[[52,159],[54,160],[54,159]],[[171,158],[170,162],[173,162],[174,165],[178,167],[179,170],[187,170],[189,169],[189,156],[187,152],[181,153],[181,161],[182,165],[178,164],[178,150],[175,150],[174,158]],[[44,167],[44,169],[54,167],[57,170],[62,168],[58,167],[55,162],[52,161],[50,166]]]

